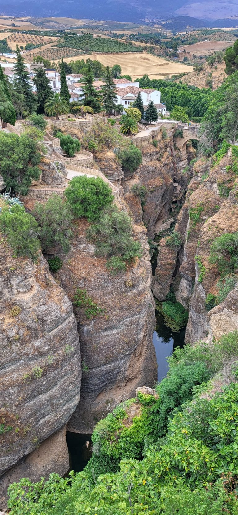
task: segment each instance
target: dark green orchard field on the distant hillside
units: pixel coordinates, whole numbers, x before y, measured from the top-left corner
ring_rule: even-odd
[[[57,45],[60,48],[76,48],[92,52],[141,52],[138,46],[126,45],[111,38],[94,38],[91,34],[72,36]]]

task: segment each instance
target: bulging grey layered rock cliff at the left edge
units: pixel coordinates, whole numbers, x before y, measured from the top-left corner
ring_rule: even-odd
[[[47,471],[66,472],[65,438],[61,456],[44,467],[34,451],[71,417],[80,395],[81,364],[72,304],[49,273],[42,255],[36,265],[14,258],[6,240],[0,246],[0,499],[14,470],[31,461],[32,480]],[[64,452],[63,452],[64,448]],[[26,458],[31,454],[31,458]],[[32,457],[33,456],[33,457]],[[34,457],[35,456],[35,457]],[[50,457],[49,457],[50,460]],[[35,465],[34,465],[35,463]],[[14,470],[12,469],[14,467]],[[25,472],[24,472],[25,474]],[[23,474],[23,475],[24,475]]]

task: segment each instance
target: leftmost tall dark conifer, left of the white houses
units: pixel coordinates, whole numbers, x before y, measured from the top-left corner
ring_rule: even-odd
[[[16,46],[16,63],[14,66],[13,87],[19,95],[24,95],[24,109],[30,113],[37,110],[37,98],[32,93],[30,76],[25,66],[19,46]]]

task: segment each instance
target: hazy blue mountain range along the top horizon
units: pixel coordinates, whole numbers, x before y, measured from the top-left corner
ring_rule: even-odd
[[[216,22],[219,26],[231,26],[236,20],[229,18],[238,15],[238,0],[229,3],[228,0],[1,0],[0,12],[15,16],[68,16],[135,23],[190,16],[205,20],[205,24],[212,21],[214,26]]]

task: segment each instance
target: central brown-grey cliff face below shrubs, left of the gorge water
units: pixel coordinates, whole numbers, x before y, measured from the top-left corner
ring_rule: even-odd
[[[152,333],[154,299],[150,291],[151,267],[143,227],[134,226],[143,258],[126,273],[111,276],[105,259],[97,258],[86,239],[88,223],[75,229],[74,245],[64,258],[58,279],[73,300],[76,289],[85,289],[103,310],[88,319],[84,308],[74,307],[83,364],[80,402],[69,421],[70,431],[91,433],[108,402],[133,397],[141,384],[157,379]]]

